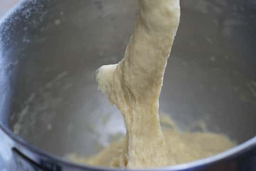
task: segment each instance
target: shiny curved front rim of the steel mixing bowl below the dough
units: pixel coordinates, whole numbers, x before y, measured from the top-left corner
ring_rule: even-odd
[[[11,138],[15,143],[21,145],[23,148],[26,150],[40,155],[41,157],[48,158],[52,161],[55,161],[56,163],[66,165],[68,167],[76,168],[76,169],[81,169],[81,170],[90,170],[90,171],[183,171],[187,169],[192,169],[196,167],[202,167],[206,166],[208,164],[213,164],[216,163],[220,160],[235,157],[236,155],[249,151],[250,149],[256,147],[256,136],[253,138],[250,138],[249,140],[236,145],[235,147],[223,151],[221,153],[218,153],[214,156],[210,156],[207,158],[202,158],[199,160],[195,160],[189,163],[185,164],[177,164],[177,165],[172,165],[172,166],[167,166],[167,167],[159,167],[159,168],[149,168],[149,169],[120,169],[120,168],[107,168],[107,167],[100,167],[100,166],[93,166],[93,165],[87,165],[87,164],[78,164],[71,162],[65,158],[61,158],[58,156],[54,156],[53,154],[43,151],[39,148],[37,148],[34,145],[29,144],[27,141],[23,140],[20,138],[18,135],[15,135],[9,128],[7,128],[6,125],[4,125],[2,122],[0,122],[0,130],[2,130],[4,133],[7,134],[9,138]],[[25,154],[26,156],[26,154]],[[30,158],[31,159],[31,158]],[[33,159],[31,159],[34,161]],[[37,162],[35,162],[37,163]]]

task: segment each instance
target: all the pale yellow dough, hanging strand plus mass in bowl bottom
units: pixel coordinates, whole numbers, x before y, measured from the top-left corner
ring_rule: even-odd
[[[114,142],[88,163],[132,169],[163,167],[180,163],[180,158],[187,162],[214,154],[216,148],[218,152],[230,147],[226,138],[213,134],[183,135],[170,130],[163,134],[158,99],[179,25],[180,4],[179,0],[138,1],[135,33],[124,58],[96,72],[99,89],[124,118],[126,138]],[[199,143],[216,140],[223,148]]]

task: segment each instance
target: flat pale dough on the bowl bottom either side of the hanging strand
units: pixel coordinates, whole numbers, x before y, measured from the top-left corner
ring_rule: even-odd
[[[236,144],[222,134],[203,132],[180,132],[168,115],[160,115],[161,124],[168,148],[168,158],[173,158],[175,164],[183,164],[197,159],[206,158],[225,151]],[[200,124],[198,125],[200,126]],[[202,127],[203,129],[203,127]],[[81,164],[91,164],[103,167],[121,167],[126,149],[125,139],[112,142],[107,148],[92,158],[84,158],[70,154],[68,159]]]

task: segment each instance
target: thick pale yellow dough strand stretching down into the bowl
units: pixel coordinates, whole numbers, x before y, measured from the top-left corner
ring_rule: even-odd
[[[168,158],[158,106],[163,75],[179,25],[179,0],[138,0],[139,17],[124,58],[101,66],[99,89],[121,111],[127,129],[121,161],[128,168],[174,164]]]

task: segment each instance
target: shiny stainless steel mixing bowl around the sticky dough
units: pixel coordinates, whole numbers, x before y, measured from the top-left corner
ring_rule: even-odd
[[[248,162],[253,168],[256,1],[181,0],[181,10],[160,112],[183,130],[203,121],[239,145],[164,170],[220,171],[217,164],[229,168],[227,161],[236,165],[230,168]],[[0,154],[8,171],[31,163],[41,170],[108,170],[61,157],[88,157],[125,133],[121,114],[97,91],[94,72],[123,57],[136,14],[136,0],[25,0],[2,20]]]

